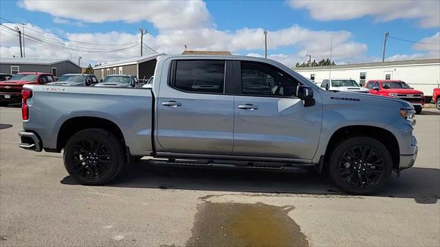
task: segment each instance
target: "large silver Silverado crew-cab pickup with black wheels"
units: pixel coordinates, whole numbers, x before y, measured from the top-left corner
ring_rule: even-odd
[[[151,156],[155,165],[314,166],[354,194],[373,193],[417,156],[408,102],[325,91],[272,60],[163,56],[154,78],[152,89],[26,85],[19,146],[64,150],[83,185]]]

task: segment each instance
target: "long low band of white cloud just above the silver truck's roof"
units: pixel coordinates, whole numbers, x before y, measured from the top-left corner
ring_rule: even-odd
[[[10,27],[14,25],[10,24]],[[38,36],[43,38],[45,42],[61,44],[65,47],[83,50],[102,50],[102,49],[118,49],[122,47],[128,47],[129,45],[121,47],[108,47],[108,46],[96,46],[86,45],[83,43],[93,44],[126,44],[135,43],[139,41],[138,34],[129,34],[125,32],[108,32],[108,33],[65,33],[65,37],[69,40],[76,40],[83,43],[75,43],[62,40],[55,34],[43,30],[39,27],[30,25],[28,26],[27,34],[30,36]],[[3,30],[5,27],[1,27]],[[36,34],[30,30],[37,30],[39,32],[45,32],[52,36],[43,34]],[[10,32],[10,30],[8,30]],[[3,36],[2,32],[2,36]],[[53,37],[55,36],[55,37]],[[271,54],[269,58],[278,60],[292,66],[296,62],[305,60],[306,54],[311,54],[313,59],[320,60],[330,56],[330,40],[333,37],[333,60],[353,58],[356,56],[362,56],[367,47],[362,43],[353,42],[350,32],[338,31],[313,31],[304,27],[294,25],[281,30],[269,31],[267,34],[268,48],[277,49],[279,47],[296,47],[298,52],[296,54]],[[129,51],[123,52],[108,52],[108,53],[91,53],[80,51],[69,51],[65,49],[57,49],[55,47],[49,47],[35,41],[26,41],[26,54],[28,57],[36,56],[52,56],[69,58],[70,54],[74,54],[73,57],[82,56],[84,61],[111,61],[122,58],[131,58],[139,56],[139,48],[133,48]],[[221,31],[213,28],[201,28],[191,30],[166,30],[157,36],[151,36],[146,34],[144,36],[144,43],[152,47],[156,51],[164,52],[166,54],[180,54],[184,50],[184,45],[188,46],[188,49],[194,50],[225,50],[238,53],[240,51],[250,51],[264,49],[264,36],[263,29],[249,29],[243,28],[236,30],[235,32]],[[4,33],[4,38],[0,40],[2,46],[12,46],[9,48],[3,48],[1,51],[2,56],[18,56],[19,49],[17,49],[17,37],[14,34]],[[144,49],[144,54],[148,51]]]

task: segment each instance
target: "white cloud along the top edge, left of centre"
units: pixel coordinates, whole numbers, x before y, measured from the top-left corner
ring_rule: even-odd
[[[159,30],[206,27],[210,15],[203,1],[30,1],[19,6],[59,18],[89,23],[148,21]]]

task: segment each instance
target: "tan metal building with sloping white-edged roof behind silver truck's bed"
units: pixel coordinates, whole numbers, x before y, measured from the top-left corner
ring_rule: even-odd
[[[114,74],[136,75],[137,79],[143,82],[143,80],[148,80],[151,75],[154,75],[157,57],[161,55],[164,54],[150,54],[102,64],[94,67],[94,73],[98,79],[104,79],[107,75]]]

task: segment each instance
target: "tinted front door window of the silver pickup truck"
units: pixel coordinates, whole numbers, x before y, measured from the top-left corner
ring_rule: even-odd
[[[281,69],[262,62],[241,61],[241,88],[245,95],[293,96],[298,81]]]

